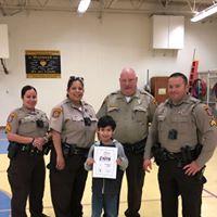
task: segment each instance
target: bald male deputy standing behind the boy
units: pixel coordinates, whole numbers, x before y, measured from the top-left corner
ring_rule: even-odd
[[[149,123],[156,108],[155,100],[145,91],[137,89],[137,75],[132,68],[124,68],[119,77],[120,90],[104,100],[97,116],[112,116],[116,124],[114,139],[124,148],[129,166],[126,170],[128,183],[128,208],[125,215],[139,217],[144,171],[142,168]]]

